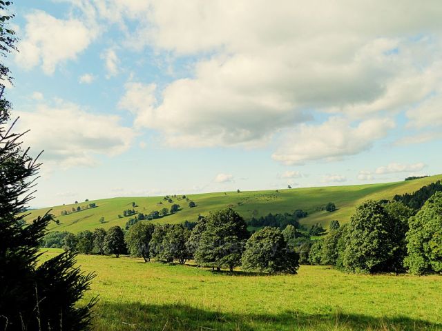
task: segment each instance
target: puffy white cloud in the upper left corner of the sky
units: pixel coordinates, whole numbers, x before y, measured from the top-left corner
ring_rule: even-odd
[[[52,74],[59,63],[77,59],[97,37],[97,29],[78,19],[57,19],[35,10],[26,15],[26,27],[17,48],[16,61],[26,69],[41,65],[46,74]]]

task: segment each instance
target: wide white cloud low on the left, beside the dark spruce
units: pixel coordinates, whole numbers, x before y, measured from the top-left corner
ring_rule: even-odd
[[[119,124],[119,117],[91,114],[65,101],[17,114],[21,116],[19,128],[30,129],[24,144],[34,151],[45,150],[43,161],[62,168],[95,165],[97,154],[121,154],[135,137],[131,128]]]

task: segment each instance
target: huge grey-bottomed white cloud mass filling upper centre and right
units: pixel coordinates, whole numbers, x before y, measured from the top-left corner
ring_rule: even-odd
[[[196,55],[189,77],[162,90],[127,85],[122,101],[136,112],[137,126],[159,130],[172,146],[262,146],[277,132],[311,119],[312,110],[343,112],[365,123],[368,115],[398,112],[427,97],[437,81],[434,49],[439,52],[439,44],[408,38],[416,31],[440,30],[436,2],[423,8],[413,1],[382,6],[313,1],[302,10],[293,1],[272,8],[266,1],[143,2],[131,4],[138,12],[120,8],[113,15],[109,4],[102,15],[137,21],[128,36],[137,48]],[[381,19],[381,8],[392,14],[390,19]],[[312,155],[300,156],[297,136],[287,134],[287,145],[298,147],[278,150],[273,158],[291,164],[356,154],[385,137],[392,128],[387,121],[363,139],[362,128],[359,134],[350,128],[353,134],[342,136],[356,136],[356,143],[334,141],[332,151]],[[309,126],[301,127],[305,134]],[[320,127],[318,133],[324,131]]]

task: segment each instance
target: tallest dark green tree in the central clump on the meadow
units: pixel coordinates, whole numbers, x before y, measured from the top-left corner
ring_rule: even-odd
[[[232,271],[240,265],[244,243],[249,237],[247,224],[231,208],[209,214],[206,230],[202,232],[195,260],[200,265],[211,265],[217,270],[227,266]]]

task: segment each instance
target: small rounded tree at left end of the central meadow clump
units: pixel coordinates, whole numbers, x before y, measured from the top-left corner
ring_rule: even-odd
[[[149,246],[155,225],[138,222],[129,228],[124,236],[129,253],[133,257],[142,257],[144,262],[151,261]]]

